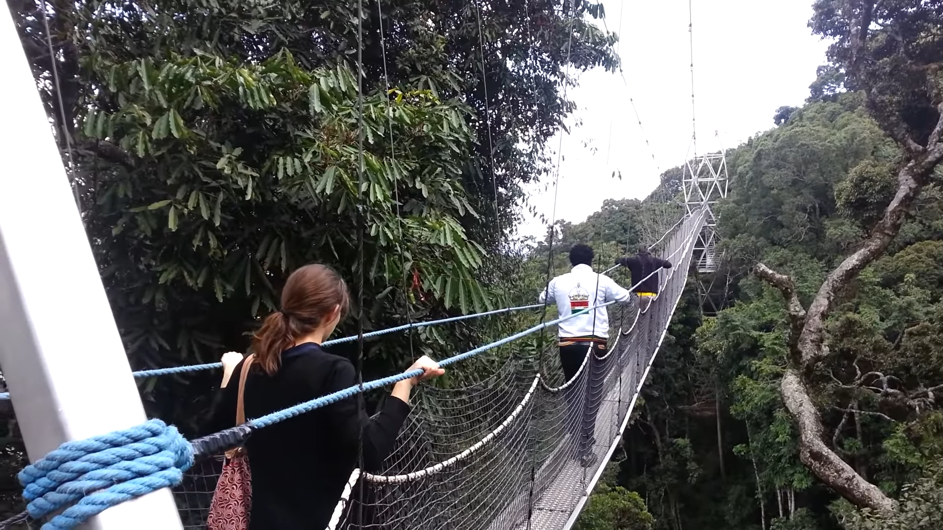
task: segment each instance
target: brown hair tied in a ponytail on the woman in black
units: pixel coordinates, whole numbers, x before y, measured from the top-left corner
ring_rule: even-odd
[[[314,264],[291,273],[282,290],[282,310],[266,317],[253,335],[256,364],[270,375],[278,372],[282,352],[326,324],[337,306],[343,318],[350,306],[350,293],[334,269]]]

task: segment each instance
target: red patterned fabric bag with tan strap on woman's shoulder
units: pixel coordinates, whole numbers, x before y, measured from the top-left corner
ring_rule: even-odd
[[[255,355],[246,357],[239,378],[239,397],[236,400],[236,424],[245,422],[242,397],[245,393],[245,377],[249,373]],[[244,447],[226,451],[223,473],[213,491],[209,505],[207,527],[209,530],[248,530],[249,513],[252,510],[252,472],[249,455]]]

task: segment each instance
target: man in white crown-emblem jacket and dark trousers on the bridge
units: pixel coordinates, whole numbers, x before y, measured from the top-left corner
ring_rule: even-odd
[[[627,304],[632,298],[632,293],[622,289],[612,278],[594,272],[592,259],[593,251],[590,247],[585,244],[573,245],[570,250],[572,270],[550,280],[547,289],[538,297],[539,303],[546,301],[555,304],[559,318],[587,307],[598,307],[557,324],[560,365],[567,381],[576,375],[589,352],[593,353],[587,362],[586,384],[574,383],[570,389],[565,390],[571,410],[575,410],[581,401],[584,404],[582,414],[578,415],[580,418],[570,420],[567,427],[569,432],[574,432],[578,423],[580,436],[577,457],[585,467],[596,461],[596,455],[592,453],[592,447],[596,443],[593,434],[596,430],[596,413],[603,398],[604,379],[603,362],[599,357],[605,356],[609,340],[608,309],[600,306],[612,301]],[[579,389],[585,389],[585,393],[581,393]],[[585,400],[581,400],[584,396]],[[573,413],[573,416],[577,414]]]

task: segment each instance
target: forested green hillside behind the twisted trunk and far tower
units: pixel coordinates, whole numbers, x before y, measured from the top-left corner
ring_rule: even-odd
[[[890,201],[890,168],[900,155],[860,93],[814,97],[777,116],[776,128],[727,153],[724,267],[717,278],[690,278],[611,479],[639,493],[654,528],[827,530],[849,508],[800,460],[779,391],[788,355],[783,298],[752,271],[763,260],[790,274],[807,305]],[[559,223],[556,270],[575,242],[592,244],[604,255],[599,267],[608,268],[626,245],[644,241],[680,173],[668,172],[645,201],[606,201],[584,223]],[[843,295],[827,324],[834,358],[811,375],[829,446],[893,496],[943,456],[940,198],[938,184],[928,186],[887,255]],[[545,244],[534,259],[546,266]],[[694,284],[711,279],[710,295],[723,308],[704,318]],[[938,511],[941,478],[924,485],[917,509]],[[598,503],[587,513],[613,506]],[[915,527],[938,527],[923,524]]]

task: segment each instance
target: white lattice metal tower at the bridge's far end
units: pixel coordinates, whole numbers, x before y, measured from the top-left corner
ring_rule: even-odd
[[[714,273],[720,263],[717,253],[717,202],[727,197],[727,158],[723,148],[718,153],[695,156],[685,164],[683,181],[685,206],[690,215],[707,208],[707,221],[694,245],[694,263],[698,273]]]

